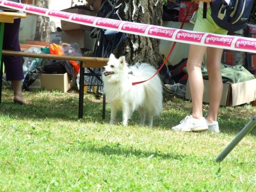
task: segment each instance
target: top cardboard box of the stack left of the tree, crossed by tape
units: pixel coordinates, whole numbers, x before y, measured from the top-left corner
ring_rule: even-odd
[[[96,16],[96,13],[94,11],[72,8],[72,7],[69,9],[64,9],[62,11],[65,11],[68,13],[81,14],[81,15]],[[77,23],[61,20],[61,30],[62,31],[79,30],[79,29],[85,30],[85,31],[91,31],[91,26],[86,26],[86,25],[82,25],[82,24],[77,24]]]

